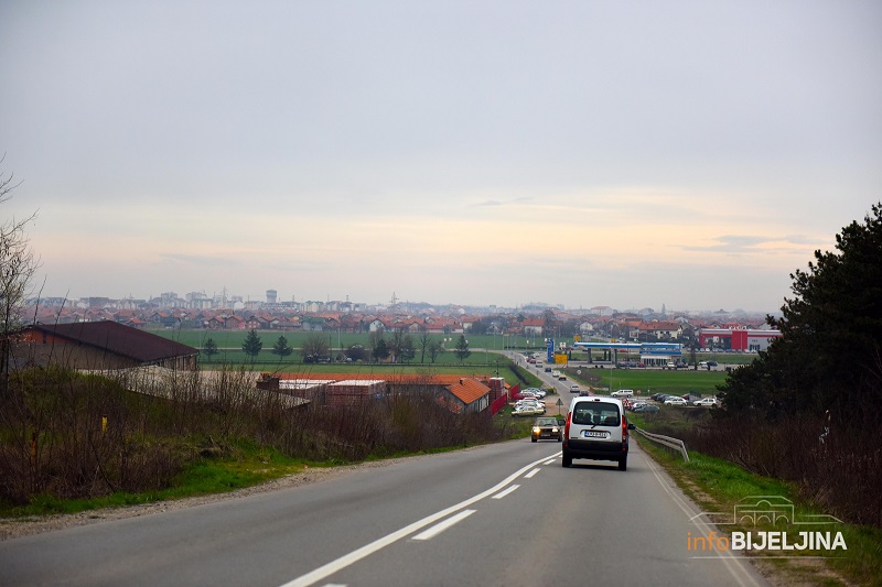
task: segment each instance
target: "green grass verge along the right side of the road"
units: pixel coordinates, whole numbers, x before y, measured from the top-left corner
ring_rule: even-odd
[[[628,416],[638,427],[653,431],[654,424],[674,425],[682,422],[676,412],[668,415],[632,414]],[[652,422],[648,415],[657,416]],[[667,432],[666,434],[670,434]],[[796,515],[824,514],[799,499],[797,489],[778,479],[763,477],[745,471],[736,465],[689,452],[689,463],[684,463],[679,453],[674,453],[635,434],[634,438],[656,463],[658,463],[677,485],[704,512],[734,514],[734,506],[752,496],[779,496],[794,503]],[[789,528],[789,526],[787,526]],[[787,528],[759,522],[756,525],[725,524],[718,530],[731,536],[731,532],[786,531]],[[841,532],[847,550],[825,551],[770,551],[770,555],[756,552],[733,553],[747,555],[757,568],[773,583],[783,585],[882,585],[882,530],[848,523],[811,525],[810,531]],[[800,542],[796,531],[790,531],[789,542]],[[794,536],[795,535],[795,536]],[[686,542],[684,541],[684,544]],[[701,553],[698,553],[701,555]],[[712,554],[712,553],[708,553]],[[772,554],[776,556],[771,556]]]

